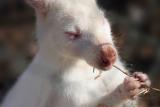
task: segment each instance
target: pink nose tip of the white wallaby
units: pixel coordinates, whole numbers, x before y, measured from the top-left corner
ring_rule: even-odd
[[[116,50],[110,45],[103,45],[101,48],[101,67],[112,66],[117,59]]]

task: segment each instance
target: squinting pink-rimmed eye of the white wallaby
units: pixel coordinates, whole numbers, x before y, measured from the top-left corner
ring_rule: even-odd
[[[69,37],[71,40],[76,40],[81,37],[81,31],[78,27],[75,28],[75,31],[66,31],[65,34]]]

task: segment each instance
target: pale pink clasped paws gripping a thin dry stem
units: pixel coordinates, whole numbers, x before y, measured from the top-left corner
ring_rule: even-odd
[[[127,98],[135,98],[140,93],[150,87],[151,82],[148,76],[142,72],[135,72],[133,77],[126,77],[123,83],[123,88]]]

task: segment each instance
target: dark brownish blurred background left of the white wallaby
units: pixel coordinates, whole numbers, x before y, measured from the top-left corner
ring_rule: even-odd
[[[0,1],[0,100],[37,51],[34,12],[22,0]]]

